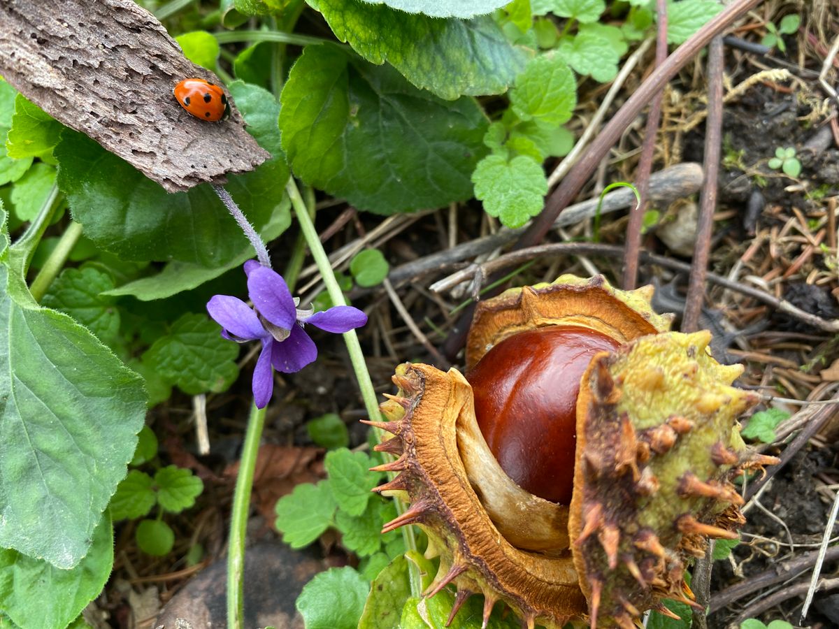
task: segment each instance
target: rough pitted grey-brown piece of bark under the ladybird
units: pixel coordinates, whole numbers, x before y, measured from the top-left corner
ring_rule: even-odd
[[[223,122],[180,107],[172,90],[181,79],[220,81],[132,0],[3,0],[0,75],[169,192],[224,183],[270,157],[232,99]]]

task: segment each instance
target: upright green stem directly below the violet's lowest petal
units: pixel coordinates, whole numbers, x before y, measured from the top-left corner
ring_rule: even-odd
[[[253,487],[253,470],[257,465],[259,439],[265,425],[265,408],[253,405],[248,418],[248,430],[239,461],[236,489],[233,491],[233,508],[230,517],[230,538],[227,540],[227,626],[244,629],[244,573],[245,534]]]

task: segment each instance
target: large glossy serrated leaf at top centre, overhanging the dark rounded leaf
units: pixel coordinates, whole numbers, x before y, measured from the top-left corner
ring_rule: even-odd
[[[488,16],[432,18],[362,0],[318,0],[315,8],[364,59],[387,61],[414,86],[447,100],[503,93],[529,55]]]

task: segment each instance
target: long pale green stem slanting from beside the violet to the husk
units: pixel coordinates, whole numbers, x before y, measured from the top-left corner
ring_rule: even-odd
[[[326,285],[326,292],[329,293],[332,303],[336,306],[346,305],[347,300],[344,299],[344,294],[341,292],[341,287],[338,286],[338,280],[335,277],[335,272],[332,270],[332,265],[329,262],[329,257],[320,242],[315,224],[309,216],[309,210],[300,196],[300,190],[297,190],[297,185],[294,184],[294,179],[289,179],[289,183],[285,186],[285,190],[289,193],[291,206],[294,208],[294,214],[297,216],[297,221],[300,223],[300,231],[309,244],[309,250],[312,257],[315,259],[315,264],[320,271],[320,276],[323,278],[323,283]],[[358,342],[358,335],[356,330],[350,330],[344,333],[344,342],[347,343],[347,352],[350,355],[350,362],[352,362],[352,369],[356,372],[356,379],[358,387],[361,389],[362,398],[364,399],[364,406],[367,408],[367,415],[371,419],[380,420],[382,415],[378,410],[378,398],[376,397],[376,390],[373,388],[373,381],[370,379],[370,372],[367,372],[367,363],[364,361],[364,354],[362,346]],[[376,434],[376,439],[381,442],[383,431],[377,428],[373,429]],[[404,512],[404,505],[398,499],[393,499],[398,513]],[[416,539],[414,538],[413,526],[405,526],[402,528],[402,535],[405,540],[405,547],[409,550],[416,550]],[[409,577],[411,582],[411,593],[414,596],[419,596],[422,590],[420,581],[420,572],[416,565],[408,562]]]

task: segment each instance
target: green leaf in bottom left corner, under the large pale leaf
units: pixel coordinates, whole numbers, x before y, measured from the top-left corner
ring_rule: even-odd
[[[112,565],[113,528],[107,514],[74,569],[0,548],[0,611],[26,629],[68,626],[105,587]],[[0,626],[6,624],[0,620]]]

